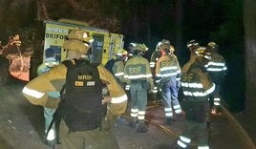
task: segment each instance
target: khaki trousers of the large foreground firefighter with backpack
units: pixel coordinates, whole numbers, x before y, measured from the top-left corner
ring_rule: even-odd
[[[61,149],[118,149],[117,139],[110,131],[105,128],[102,122],[102,130],[99,128],[90,131],[70,132],[63,120],[60,122],[59,135]]]

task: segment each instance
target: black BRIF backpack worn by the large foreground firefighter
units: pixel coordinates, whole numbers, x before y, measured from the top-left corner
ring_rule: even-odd
[[[61,91],[62,117],[71,131],[101,127],[107,107],[102,106],[102,82],[96,66],[86,60],[62,62],[67,67],[66,84]]]

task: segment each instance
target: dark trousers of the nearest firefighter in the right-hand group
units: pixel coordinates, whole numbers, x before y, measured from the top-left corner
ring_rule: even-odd
[[[186,115],[185,129],[181,136],[196,141],[198,146],[207,146],[206,117],[209,113],[208,96],[186,97],[181,106]]]

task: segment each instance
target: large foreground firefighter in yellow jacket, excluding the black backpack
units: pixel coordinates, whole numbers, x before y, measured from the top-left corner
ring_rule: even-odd
[[[92,42],[90,33],[75,29],[68,35],[63,48],[67,50],[67,58],[75,62],[75,59],[88,59],[88,51]],[[59,125],[59,135],[62,149],[84,148],[119,148],[115,136],[108,129],[109,122],[115,122],[116,117],[122,115],[127,106],[127,96],[117,83],[116,78],[103,65],[96,66],[101,81],[107,86],[110,96],[104,96],[102,104],[108,100],[108,112],[102,121],[102,129],[96,128],[89,131],[70,132],[63,121]],[[32,79],[22,90],[23,95],[34,105],[56,109],[59,98],[49,96],[49,92],[59,92],[66,82],[67,68],[64,64],[53,67],[49,72]],[[107,121],[106,121],[107,120]],[[95,138],[92,139],[92,136]],[[100,143],[98,143],[100,142]]]

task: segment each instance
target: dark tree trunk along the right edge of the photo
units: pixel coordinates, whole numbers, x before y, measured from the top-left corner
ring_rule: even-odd
[[[244,23],[245,23],[245,73],[246,73],[246,108],[248,116],[256,113],[256,1],[244,1]]]

